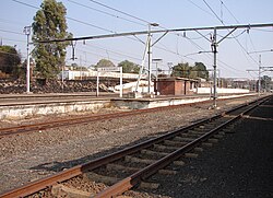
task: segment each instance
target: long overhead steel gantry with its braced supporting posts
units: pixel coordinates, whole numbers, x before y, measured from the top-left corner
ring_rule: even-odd
[[[161,38],[163,38],[167,33],[174,32],[198,32],[198,31],[213,31],[213,36],[211,40],[211,47],[213,53],[213,69],[214,69],[214,82],[213,82],[213,107],[216,107],[216,70],[217,70],[217,46],[221,42],[223,42],[227,36],[229,36],[233,32],[239,28],[259,28],[259,27],[270,27],[273,26],[273,23],[262,23],[262,24],[242,24],[242,25],[223,25],[223,26],[206,26],[206,27],[186,27],[186,28],[169,28],[169,30],[156,30],[152,31],[151,25],[149,24],[147,31],[138,31],[138,32],[127,32],[127,33],[116,33],[116,34],[105,34],[105,35],[94,35],[94,36],[83,36],[83,37],[74,37],[74,38],[63,38],[63,39],[48,39],[48,40],[38,40],[38,44],[45,43],[55,43],[55,42],[68,42],[68,40],[87,40],[87,39],[102,39],[102,38],[114,38],[121,36],[136,36],[136,35],[147,35],[147,42],[145,47],[145,54],[151,54],[151,47],[154,46]],[[228,30],[228,34],[224,36],[221,40],[217,42],[217,31]],[[232,30],[232,31],[229,31]],[[151,44],[151,35],[164,33],[154,44]],[[145,55],[144,55],[145,57]],[[143,58],[145,59],[145,58]],[[149,66],[151,65],[151,57],[149,55]],[[144,61],[142,61],[144,63]],[[142,69],[141,69],[142,70]],[[151,68],[149,67],[149,73],[151,74]],[[149,84],[151,83],[151,79],[149,78]]]

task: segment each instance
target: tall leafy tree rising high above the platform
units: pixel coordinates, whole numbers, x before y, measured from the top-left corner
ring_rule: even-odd
[[[69,43],[38,44],[37,42],[71,37],[72,35],[67,32],[66,14],[67,10],[61,2],[44,0],[40,10],[34,16],[33,55],[36,60],[36,70],[43,78],[57,78],[61,66],[64,65],[66,47]]]

